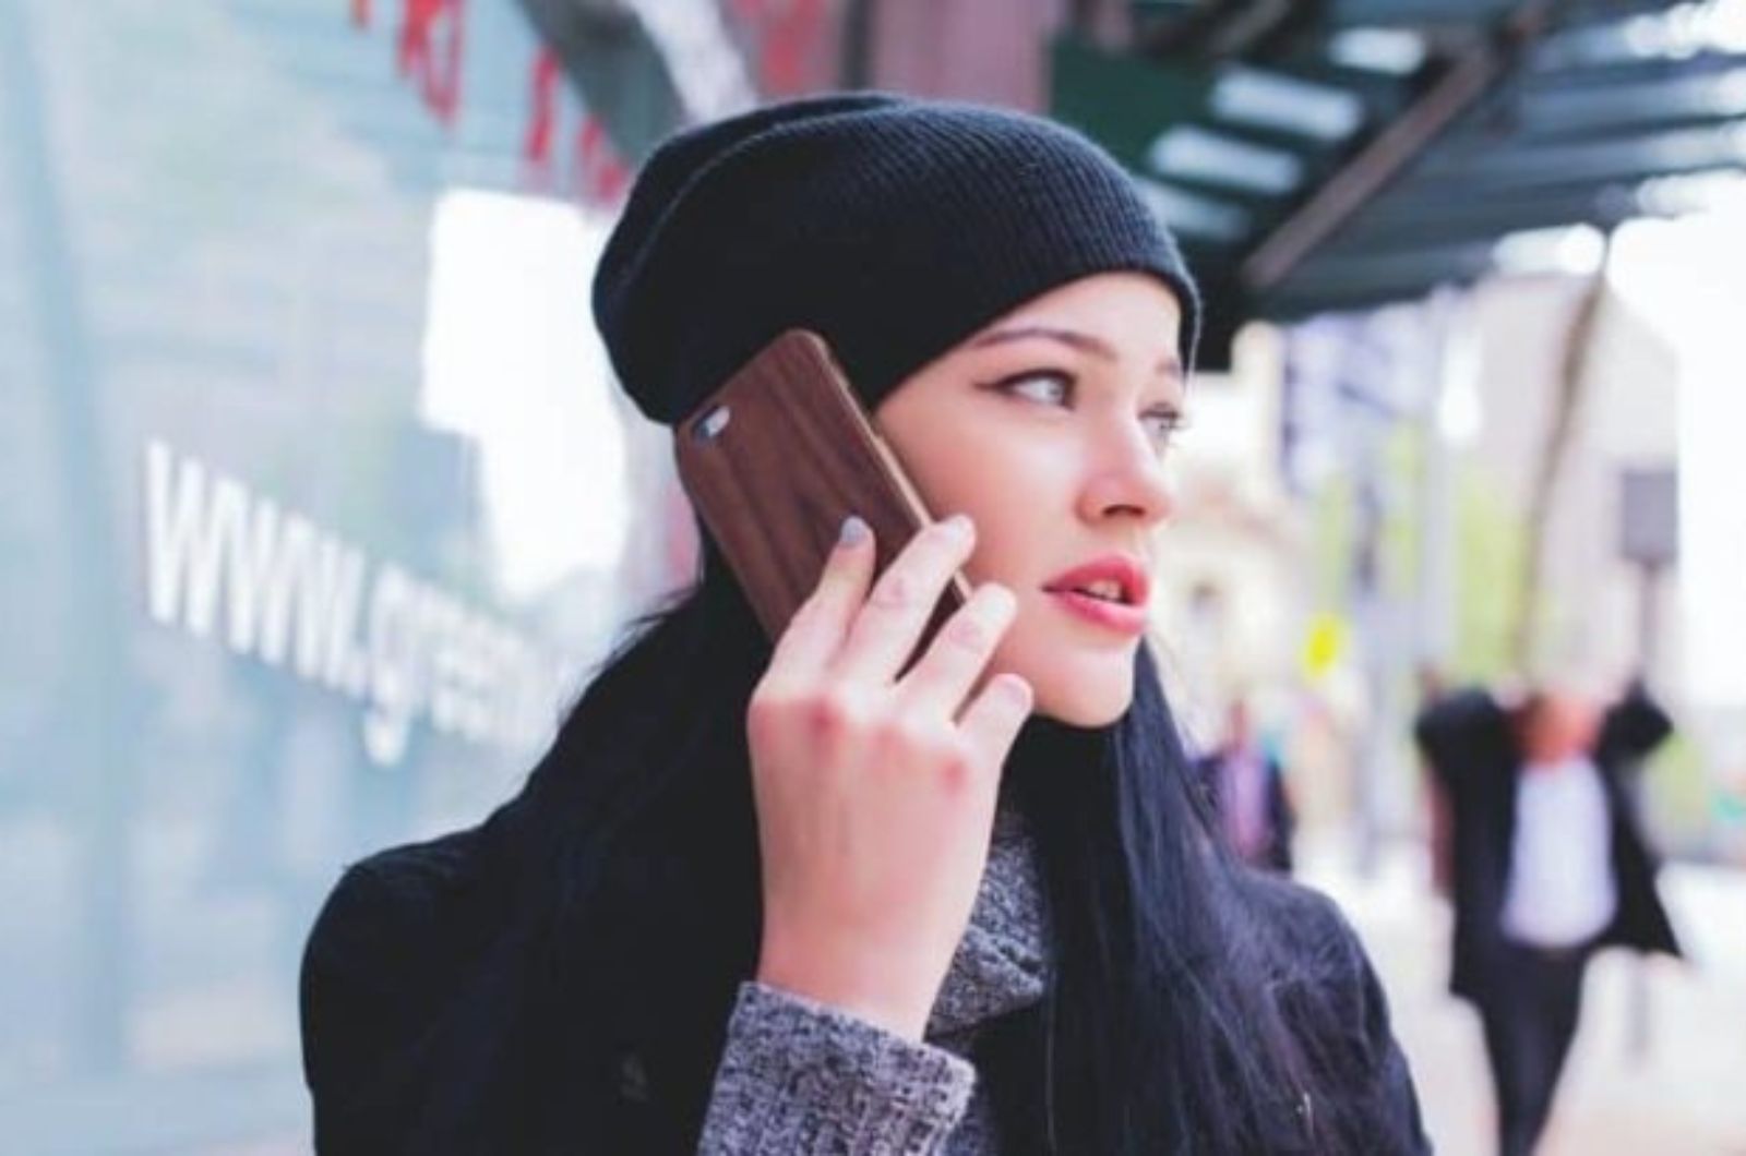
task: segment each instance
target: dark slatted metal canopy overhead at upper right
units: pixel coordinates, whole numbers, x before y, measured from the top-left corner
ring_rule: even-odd
[[[1254,316],[1414,299],[1500,239],[1701,208],[1746,182],[1746,0],[1149,0],[1124,52],[1055,45],[1053,112],[1152,190]]]

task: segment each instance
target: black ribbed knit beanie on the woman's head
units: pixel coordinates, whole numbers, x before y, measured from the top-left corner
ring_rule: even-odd
[[[789,328],[822,335],[871,410],[995,318],[1116,271],[1175,293],[1191,365],[1194,283],[1109,154],[1025,114],[856,93],[667,140],[601,257],[594,316],[655,421]]]

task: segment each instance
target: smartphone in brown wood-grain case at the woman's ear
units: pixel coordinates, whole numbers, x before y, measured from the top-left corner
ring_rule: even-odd
[[[934,520],[808,330],[782,334],[735,372],[679,424],[674,449],[686,494],[772,641],[817,587],[850,513],[873,527],[876,571]],[[922,646],[967,597],[953,575]]]

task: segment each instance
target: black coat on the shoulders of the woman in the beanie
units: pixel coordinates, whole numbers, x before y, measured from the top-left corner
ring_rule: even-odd
[[[721,1041],[688,1056],[663,1044],[662,1023],[725,1022],[732,992],[714,1011],[704,1006],[712,997],[676,999],[686,985],[658,969],[697,967],[697,957],[644,960],[637,974],[567,973],[541,912],[519,903],[538,889],[503,870],[510,831],[499,812],[381,852],[328,898],[302,973],[323,1156],[695,1153],[700,1121],[676,1111],[693,1097],[674,1090],[707,1088]],[[1283,880],[1245,871],[1234,882],[1255,950],[1289,964],[1276,981],[1285,1022],[1313,1041],[1311,1062],[1339,1100],[1310,1105],[1311,1133],[1339,1118],[1364,1137],[1355,1151],[1426,1153],[1386,999],[1344,917]],[[613,992],[611,1020],[566,999],[587,988]],[[1294,1137],[1269,1151],[1304,1149]]]

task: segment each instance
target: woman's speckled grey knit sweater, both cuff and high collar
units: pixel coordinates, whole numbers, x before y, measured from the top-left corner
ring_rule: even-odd
[[[999,1153],[966,1056],[981,1023],[1042,997],[1046,941],[1030,836],[1016,812],[1002,812],[927,1041],[746,983],[728,1022],[700,1156]]]

